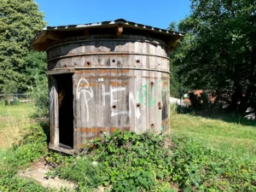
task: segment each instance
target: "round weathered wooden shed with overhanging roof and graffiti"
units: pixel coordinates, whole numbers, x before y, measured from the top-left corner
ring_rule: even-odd
[[[48,26],[49,148],[73,154],[113,131],[170,130],[169,52],[183,34],[126,20]]]

